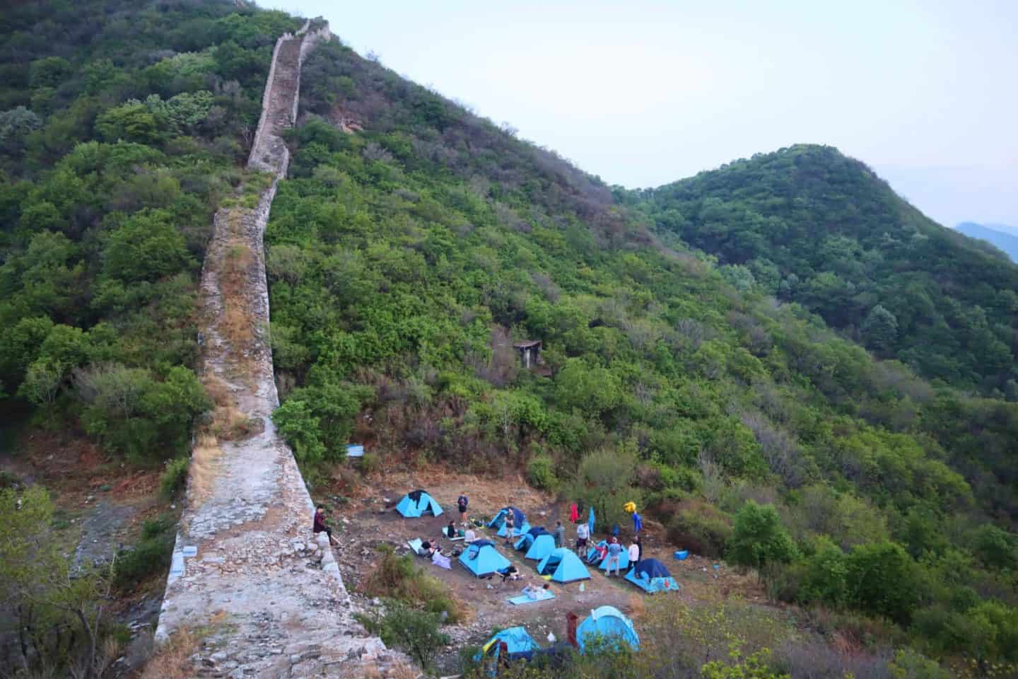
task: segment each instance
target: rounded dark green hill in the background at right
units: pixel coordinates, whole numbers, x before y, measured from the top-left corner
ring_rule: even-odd
[[[833,148],[754,156],[646,196],[660,230],[745,267],[747,281],[880,355],[987,393],[1016,377],[1018,267]]]

